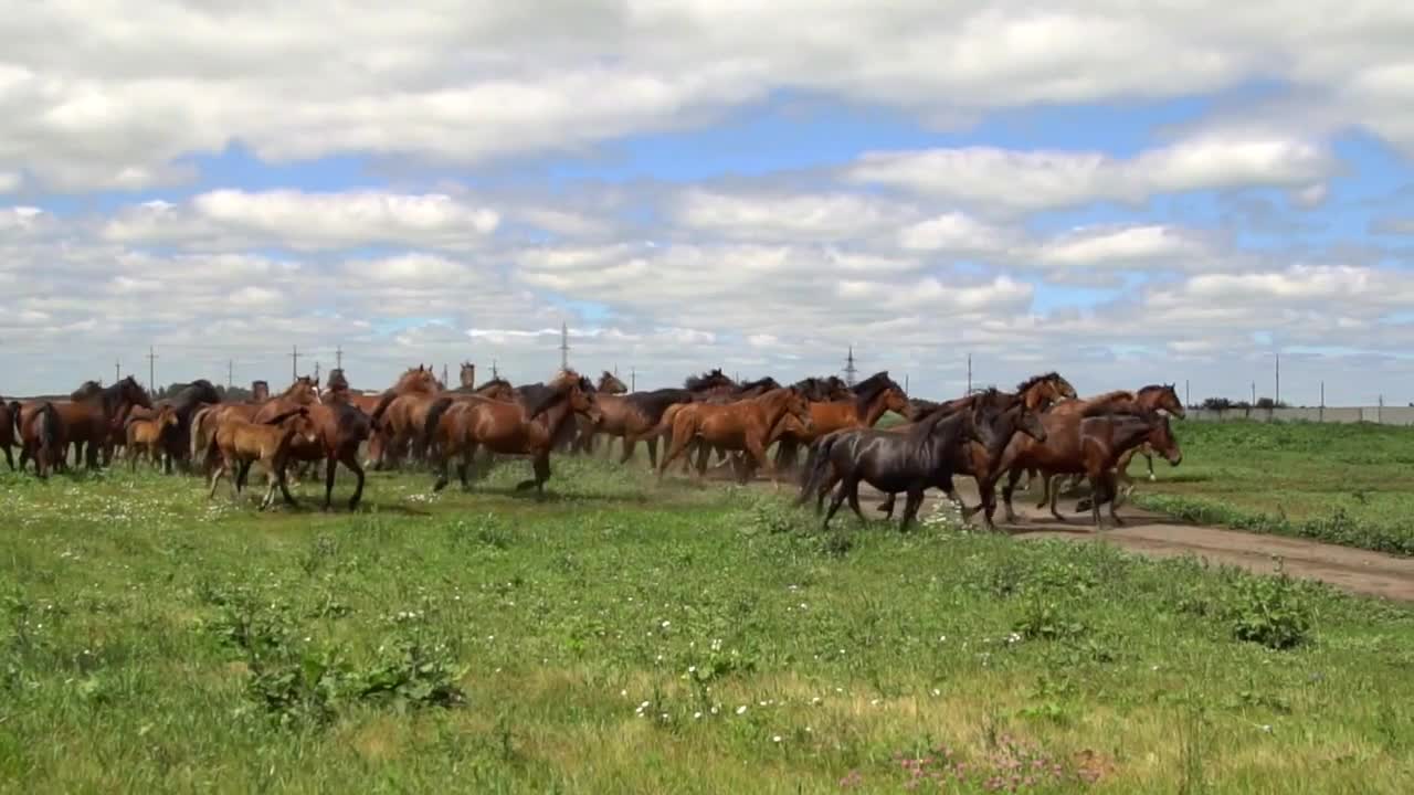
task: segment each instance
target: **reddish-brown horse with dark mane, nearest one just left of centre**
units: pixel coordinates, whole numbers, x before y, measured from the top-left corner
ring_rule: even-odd
[[[518,400],[492,400],[472,396],[460,400],[445,398],[427,417],[424,434],[436,443],[437,481],[433,491],[447,487],[448,465],[460,458],[457,474],[461,485],[469,488],[468,471],[477,450],[505,455],[530,455],[534,477],[516,484],[516,491],[534,488],[544,495],[550,480],[550,451],[559,430],[575,416],[597,419],[594,385],[584,376],[561,373],[549,385],[519,388]]]

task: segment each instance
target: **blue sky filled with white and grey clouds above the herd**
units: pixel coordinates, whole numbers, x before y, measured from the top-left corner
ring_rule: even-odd
[[[1414,400],[1411,3],[221,6],[0,28],[0,395],[566,324],[639,389]]]

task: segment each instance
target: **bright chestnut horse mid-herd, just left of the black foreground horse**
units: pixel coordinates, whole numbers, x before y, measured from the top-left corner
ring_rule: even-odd
[[[771,471],[772,484],[776,482],[775,467],[766,463],[765,441],[771,430],[785,414],[792,414],[810,431],[810,409],[797,389],[776,388],[755,398],[745,398],[731,403],[687,403],[679,405],[673,414],[673,440],[658,465],[658,478],[674,458],[687,450],[694,440],[701,440],[697,453],[697,477],[701,478],[707,470],[707,448],[740,450],[749,453],[758,467]],[[666,417],[665,417],[666,419]]]

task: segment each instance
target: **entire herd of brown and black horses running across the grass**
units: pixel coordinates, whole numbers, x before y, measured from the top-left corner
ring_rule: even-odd
[[[211,382],[195,381],[154,402],[129,376],[110,386],[85,382],[66,400],[0,402],[0,448],[14,470],[17,446],[18,468],[33,461],[41,478],[66,470],[71,448],[74,465],[88,468],[110,465],[117,455],[129,467],[146,458],[167,474],[208,478],[209,497],[228,478],[239,498],[259,464],[266,477],[262,508],[277,492],[294,505],[290,475],[317,475],[322,464],[329,509],[344,465],[356,478],[348,501],[354,509],[366,467],[426,467],[433,488],[441,489],[454,465],[469,487],[498,457],[525,457],[533,477],[516,488],[543,494],[551,453],[592,454],[601,441],[608,448],[618,439],[619,463],[642,441],[659,480],[679,458],[684,472],[696,463],[701,478],[715,454],[717,465],[731,467],[741,482],[765,471],[779,488],[781,475],[793,472],[796,505],[814,498],[817,512],[834,489],[824,525],[846,501],[864,519],[861,482],[887,495],[878,505],[887,516],[904,494],[905,528],[929,488],[967,516],[981,512],[993,528],[1000,484],[1007,521],[1014,521],[1012,495],[1022,475],[1028,488],[1029,478],[1042,477],[1042,505],[1058,519],[1056,478],[1086,478],[1090,498],[1077,509],[1087,502],[1099,528],[1107,504],[1120,523],[1116,508],[1133,488],[1130,460],[1144,455],[1152,478],[1154,455],[1174,465],[1182,458],[1169,426],[1169,416],[1184,416],[1174,385],[1080,399],[1055,372],[1012,392],[988,388],[942,403],[909,398],[887,371],[854,385],[837,376],[782,385],[772,378],[738,383],[713,369],[689,376],[682,388],[629,392],[609,372],[595,383],[570,369],[549,382],[516,386],[493,378],[478,385],[475,366],[464,364],[461,383],[452,388],[426,365],[409,368],[380,392],[351,389],[342,369],[331,371],[322,388],[308,376],[279,395],[260,386],[247,400],[222,400]],[[877,427],[888,413],[904,422]],[[976,506],[957,497],[957,475],[976,481]]]

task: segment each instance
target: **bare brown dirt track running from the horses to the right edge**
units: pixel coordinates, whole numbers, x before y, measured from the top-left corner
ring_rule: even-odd
[[[977,504],[976,485],[970,478],[957,478],[957,487],[966,504]],[[790,487],[782,484],[782,491]],[[790,491],[793,492],[793,488]],[[872,516],[881,516],[874,511],[881,497],[867,487],[860,489],[860,504]],[[932,512],[940,498],[936,492],[929,492],[921,515]],[[1414,559],[1411,557],[1396,557],[1305,539],[1188,525],[1133,505],[1120,508],[1120,519],[1126,522],[1124,526],[1106,526],[1104,530],[1096,533],[1089,512],[1075,515],[1075,519],[1062,523],[1056,522],[1049,511],[1036,508],[1036,499],[1038,495],[1018,491],[1012,505],[1019,522],[1015,525],[998,522],[998,528],[1022,540],[1100,540],[1151,557],[1176,557],[1192,553],[1213,564],[1226,563],[1261,573],[1275,571],[1275,557],[1280,556],[1287,573],[1294,577],[1322,580],[1357,594],[1414,601]],[[1062,498],[1058,506],[1062,515],[1073,515],[1075,499]],[[894,516],[896,518],[902,509],[904,499],[899,495]],[[997,513],[1000,519],[1000,508]],[[974,521],[978,519],[974,518]],[[854,522],[854,516],[848,506],[841,506],[834,521]]]

